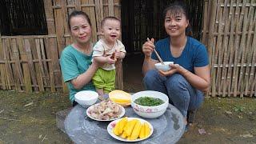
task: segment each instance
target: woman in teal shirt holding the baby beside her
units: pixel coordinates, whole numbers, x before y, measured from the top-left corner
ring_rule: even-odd
[[[74,10],[68,18],[70,34],[74,43],[62,51],[60,64],[64,82],[68,82],[70,101],[73,106],[74,94],[81,90],[94,90],[91,78],[98,69],[96,62],[91,62],[92,47],[90,42],[92,34],[90,18],[82,11]]]

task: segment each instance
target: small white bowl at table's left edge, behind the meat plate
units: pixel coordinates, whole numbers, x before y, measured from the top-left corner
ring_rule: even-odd
[[[98,93],[91,90],[82,90],[77,94],[74,94],[74,100],[83,107],[93,105],[95,102],[97,102],[97,99]]]

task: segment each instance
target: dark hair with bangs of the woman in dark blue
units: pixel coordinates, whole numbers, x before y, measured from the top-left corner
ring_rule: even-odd
[[[184,3],[179,1],[172,3],[170,6],[167,6],[165,10],[163,10],[163,19],[166,18],[167,13],[173,14],[174,16],[178,14],[184,14],[186,19],[189,20],[189,14],[186,10],[186,6],[184,5]],[[190,26],[190,23],[186,27],[186,35],[192,36],[192,28]]]

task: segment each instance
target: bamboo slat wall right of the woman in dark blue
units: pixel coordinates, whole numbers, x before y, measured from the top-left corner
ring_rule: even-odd
[[[255,96],[255,0],[204,3],[202,42],[210,54],[210,95]]]

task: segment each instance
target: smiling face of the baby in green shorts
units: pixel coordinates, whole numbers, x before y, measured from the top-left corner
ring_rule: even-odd
[[[121,35],[120,22],[117,20],[107,19],[102,27],[102,34],[106,42],[114,43]]]

